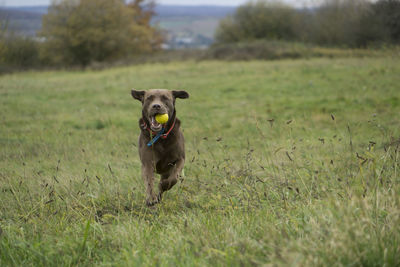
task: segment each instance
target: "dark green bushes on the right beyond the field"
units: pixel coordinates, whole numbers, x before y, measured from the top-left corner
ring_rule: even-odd
[[[223,19],[217,43],[282,40],[335,47],[400,42],[400,1],[325,0],[312,9],[278,1],[251,1]]]

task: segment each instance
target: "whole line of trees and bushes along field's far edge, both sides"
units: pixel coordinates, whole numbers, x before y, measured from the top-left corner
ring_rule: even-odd
[[[10,33],[7,20],[0,17],[0,73],[87,66],[152,54],[163,42],[162,31],[151,24],[154,5],[153,0],[54,0],[43,16],[38,40]],[[309,54],[305,46],[292,44],[398,45],[400,0],[324,0],[311,9],[272,0],[250,1],[220,21],[215,43],[207,51],[196,52],[194,58],[271,59]]]

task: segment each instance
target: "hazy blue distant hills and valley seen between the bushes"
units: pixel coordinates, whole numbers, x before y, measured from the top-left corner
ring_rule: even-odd
[[[16,34],[34,37],[47,10],[48,6],[3,7],[0,19],[8,19]],[[213,42],[219,20],[234,11],[231,6],[158,5],[153,24],[167,31],[166,48],[206,47]]]

